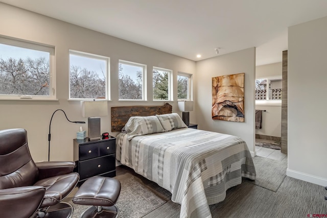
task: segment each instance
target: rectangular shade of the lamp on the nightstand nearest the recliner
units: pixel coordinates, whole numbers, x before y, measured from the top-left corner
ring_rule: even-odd
[[[106,101],[84,101],[82,102],[82,116],[107,116],[108,103]]]

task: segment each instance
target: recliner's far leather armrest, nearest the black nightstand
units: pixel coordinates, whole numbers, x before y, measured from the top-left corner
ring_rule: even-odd
[[[75,162],[73,161],[49,161],[35,163],[39,171],[39,180],[69,174],[73,172]]]

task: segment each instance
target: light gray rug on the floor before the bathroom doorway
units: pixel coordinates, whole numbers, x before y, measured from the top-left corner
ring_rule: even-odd
[[[276,192],[286,177],[287,158],[282,161],[272,160],[260,156],[253,158],[256,179],[251,183]]]

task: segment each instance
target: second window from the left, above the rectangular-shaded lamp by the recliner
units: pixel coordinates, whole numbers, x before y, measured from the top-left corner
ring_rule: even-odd
[[[69,50],[69,99],[108,99],[109,58]]]

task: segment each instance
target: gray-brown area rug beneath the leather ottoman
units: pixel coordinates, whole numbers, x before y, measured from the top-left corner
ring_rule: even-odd
[[[121,193],[116,203],[121,218],[139,218],[166,203],[134,176],[121,181],[121,185]],[[69,203],[74,207],[73,218],[78,218],[85,209],[90,207],[76,205],[72,201]]]

